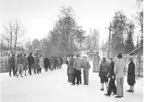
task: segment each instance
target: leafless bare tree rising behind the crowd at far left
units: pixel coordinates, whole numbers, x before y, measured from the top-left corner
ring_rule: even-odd
[[[17,46],[21,42],[19,39],[24,35],[24,29],[17,21],[12,23],[9,22],[5,26],[5,31],[2,34],[4,43],[8,45],[11,54],[16,54]]]

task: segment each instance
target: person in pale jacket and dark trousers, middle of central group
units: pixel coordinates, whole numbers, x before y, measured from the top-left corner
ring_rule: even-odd
[[[75,85],[76,79],[77,79],[77,85],[81,83],[81,64],[82,64],[82,61],[80,59],[80,55],[77,54],[76,59],[74,60],[74,64],[73,64],[74,78],[73,78],[73,84],[71,85]]]

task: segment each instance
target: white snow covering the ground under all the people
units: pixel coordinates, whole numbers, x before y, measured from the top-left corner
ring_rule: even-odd
[[[100,91],[98,73],[90,69],[89,85],[72,86],[67,82],[66,65],[62,69],[28,75],[23,78],[0,74],[1,102],[143,102],[143,81],[137,80],[135,92],[128,93],[124,81],[124,97],[107,97]]]

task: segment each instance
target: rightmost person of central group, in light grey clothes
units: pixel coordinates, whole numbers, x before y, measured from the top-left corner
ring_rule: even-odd
[[[87,61],[87,57],[83,57],[83,63],[81,65],[83,68],[83,75],[84,75],[84,85],[89,84],[89,69],[90,69],[90,64]]]

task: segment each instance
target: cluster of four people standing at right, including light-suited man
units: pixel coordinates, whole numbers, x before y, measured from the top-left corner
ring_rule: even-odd
[[[103,61],[100,64],[99,77],[102,85],[101,91],[104,90],[104,83],[106,83],[107,93],[106,96],[110,96],[113,92],[115,98],[123,97],[123,83],[124,76],[126,73],[126,63],[123,60],[122,54],[118,54],[117,58],[110,58],[110,64],[107,63],[106,58],[103,58]],[[135,84],[135,64],[133,58],[129,59],[127,71],[127,83],[130,86],[130,89],[127,92],[134,92]],[[109,85],[108,85],[109,79]],[[115,84],[116,83],[116,84]]]

